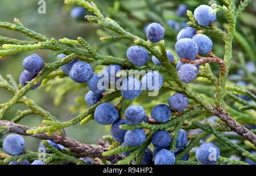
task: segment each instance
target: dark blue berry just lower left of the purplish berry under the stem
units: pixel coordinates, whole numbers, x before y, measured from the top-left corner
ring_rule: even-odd
[[[156,121],[160,123],[167,122],[168,119],[171,118],[172,111],[169,108],[169,106],[164,104],[159,104],[154,106],[154,108],[151,109],[151,117]]]

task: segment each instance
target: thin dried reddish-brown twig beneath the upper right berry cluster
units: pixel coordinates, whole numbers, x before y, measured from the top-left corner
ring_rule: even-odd
[[[201,57],[200,55],[196,55],[196,60],[194,61],[190,61],[188,59],[184,59],[184,58],[180,58],[180,61],[182,63],[191,63],[193,65],[203,65],[205,63],[210,63],[210,62],[215,62],[218,65],[220,65],[220,70],[226,73],[226,66],[225,66],[225,62],[216,57],[216,55],[214,55],[212,53],[212,51],[210,51],[209,53],[207,53],[210,57]]]

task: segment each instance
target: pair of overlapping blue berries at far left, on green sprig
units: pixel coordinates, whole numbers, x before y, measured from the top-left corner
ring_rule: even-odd
[[[44,61],[38,54],[32,54],[23,59],[23,67],[25,70],[19,76],[19,83],[22,87],[38,76],[44,67]],[[40,85],[41,83],[36,84],[31,90],[38,88]]]

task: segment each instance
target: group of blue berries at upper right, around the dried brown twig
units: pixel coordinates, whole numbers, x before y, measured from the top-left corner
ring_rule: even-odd
[[[212,7],[201,5],[196,8],[194,14],[197,23],[208,26],[216,20],[216,14],[211,14]],[[207,54],[212,50],[212,40],[206,35],[196,33],[196,29],[186,27],[181,29],[177,35],[177,42],[175,44],[175,51],[180,58],[195,61],[197,54]],[[197,78],[199,65],[192,65],[190,63],[183,63],[179,61],[176,65],[178,76],[184,83],[191,83]]]

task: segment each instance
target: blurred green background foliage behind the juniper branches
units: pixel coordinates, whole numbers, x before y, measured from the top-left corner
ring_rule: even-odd
[[[18,18],[20,22],[29,29],[42,33],[47,37],[54,37],[57,40],[59,38],[68,37],[69,39],[76,40],[81,36],[88,41],[94,49],[99,53],[105,55],[114,55],[117,57],[126,58],[126,50],[129,46],[134,45],[131,41],[122,40],[118,42],[104,43],[100,41],[100,37],[112,35],[112,32],[108,29],[99,27],[97,24],[89,23],[84,19],[75,20],[71,18],[70,11],[73,7],[71,5],[65,5],[63,0],[45,0],[46,1],[46,14],[38,13],[38,1],[35,0],[1,0],[0,1],[0,16],[2,22],[13,23],[14,18]],[[195,10],[195,8],[201,4],[208,5],[209,1],[164,1],[164,0],[94,0],[100,8],[102,14],[109,16],[119,23],[126,31],[133,33],[146,40],[146,35],[143,32],[143,27],[149,22],[157,22],[162,24],[166,29],[166,35],[164,41],[166,47],[175,55],[174,45],[176,42],[177,31],[172,29],[166,23],[168,19],[175,19],[177,22],[188,22],[187,16],[178,17],[175,14],[176,8],[180,3],[188,5],[188,10]],[[216,1],[218,5],[223,5],[223,1]],[[246,76],[246,67],[241,67],[241,62],[256,63],[255,61],[255,38],[256,38],[256,1],[250,2],[250,5],[246,7],[246,10],[240,15],[237,21],[237,31],[233,42],[233,59],[232,66],[230,67],[229,83],[234,85],[237,81],[246,81],[245,88],[250,91],[255,90],[255,71],[251,73],[251,76]],[[160,12],[160,13],[159,13]],[[86,11],[85,15],[89,15],[91,12]],[[227,19],[221,13],[217,14],[216,25],[219,28],[225,29]],[[181,29],[181,27],[180,27]],[[11,38],[19,38],[20,40],[30,40],[26,36],[22,36],[18,32],[7,31],[6,29],[0,29],[1,36],[7,36]],[[213,53],[218,57],[224,56],[224,43],[220,38],[214,35],[208,35],[213,41]],[[44,59],[45,62],[53,62],[56,56],[53,55],[51,50],[35,50],[26,51],[16,55],[11,55],[5,59],[0,59],[0,72],[3,76],[6,74],[12,74],[15,80],[18,82],[19,75],[23,71],[22,61],[25,57],[31,54],[38,54]],[[210,63],[213,73],[218,75],[219,68],[216,63]],[[96,68],[100,70],[100,68]],[[240,75],[240,76],[237,76]],[[51,112],[52,115],[57,117],[60,122],[69,121],[73,117],[79,114],[79,111],[86,108],[87,104],[84,101],[85,93],[89,89],[86,84],[78,84],[69,78],[64,78],[64,84],[59,84],[60,81],[56,78],[49,81],[46,86],[41,86],[35,91],[29,91],[27,97],[31,98],[36,104],[42,106],[42,108]],[[192,87],[200,93],[205,93],[209,97],[213,97],[214,89],[205,86],[199,81],[193,81]],[[212,87],[213,88],[213,87]],[[63,90],[66,91],[63,91]],[[162,89],[159,92],[158,97],[147,97],[147,92],[142,93],[139,98],[133,101],[135,105],[142,105],[146,110],[146,113],[150,116],[150,110],[153,106],[159,103],[166,104],[168,97],[173,92]],[[11,98],[11,93],[0,89],[0,102],[6,102]],[[119,99],[118,99],[119,100]],[[115,100],[118,102],[118,100]],[[113,104],[116,104],[113,102]],[[131,103],[131,102],[130,102]],[[233,102],[227,101],[230,106],[236,106]],[[129,105],[129,104],[127,104]],[[15,105],[10,111],[5,114],[5,119],[10,120],[14,118],[17,110],[24,110],[24,105]],[[203,119],[203,115],[197,117]],[[22,125],[31,127],[37,127],[42,123],[42,119],[38,115],[29,115],[23,118],[20,122]],[[256,123],[256,122],[255,122]],[[109,126],[102,126],[95,121],[90,121],[86,126],[79,123],[66,128],[67,135],[73,139],[79,140],[86,144],[95,144],[98,138],[102,138],[102,135],[110,134]],[[240,138],[239,136],[237,138]],[[31,151],[37,151],[40,143],[39,139],[24,137],[27,144],[27,149]],[[250,149],[246,148],[245,149]],[[3,152],[3,151],[1,151]],[[225,156],[224,153],[221,153]]]

